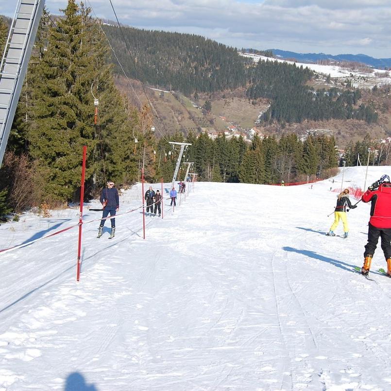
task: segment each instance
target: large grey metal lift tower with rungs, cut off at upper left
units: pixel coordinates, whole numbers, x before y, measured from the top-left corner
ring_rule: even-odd
[[[0,65],[0,165],[44,5],[45,0],[17,0]]]

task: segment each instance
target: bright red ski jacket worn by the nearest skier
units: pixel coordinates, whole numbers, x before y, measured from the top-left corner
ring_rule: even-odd
[[[376,228],[391,228],[391,184],[383,183],[376,190],[367,190],[362,202],[372,202],[369,222]]]

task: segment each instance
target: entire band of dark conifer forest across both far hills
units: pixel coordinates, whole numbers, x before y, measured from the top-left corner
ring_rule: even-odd
[[[249,98],[272,100],[262,117],[265,122],[377,120],[374,108],[359,102],[358,90],[329,93],[309,88],[306,83],[315,75],[308,68],[276,61],[254,65],[251,59],[238,56],[236,48],[194,34],[122,27],[124,41],[119,28],[105,25],[104,30],[127,75],[157,88],[189,96],[244,86]],[[121,73],[114,55],[112,61]]]

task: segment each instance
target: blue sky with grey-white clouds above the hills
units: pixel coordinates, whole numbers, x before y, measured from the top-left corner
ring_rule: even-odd
[[[112,0],[120,22],[138,28],[201,34],[237,48],[391,57],[390,0]],[[15,3],[1,1],[13,16]],[[108,0],[85,0],[114,20]],[[47,0],[52,14],[66,0]]]

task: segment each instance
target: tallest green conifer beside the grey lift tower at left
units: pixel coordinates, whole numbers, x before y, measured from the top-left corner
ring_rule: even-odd
[[[121,178],[113,156],[126,113],[106,63],[108,47],[90,10],[69,0],[63,12],[49,28],[47,51],[35,69],[45,83],[34,88],[28,138],[45,194],[69,200],[80,186],[83,145],[88,148],[86,180],[93,178],[92,186],[113,174]],[[99,99],[99,126],[94,126],[92,91]]]

